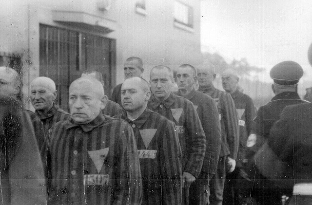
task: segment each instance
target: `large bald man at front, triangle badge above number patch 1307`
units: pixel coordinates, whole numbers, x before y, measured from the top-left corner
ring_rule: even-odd
[[[106,101],[94,78],[78,78],[70,85],[71,119],[50,129],[41,151],[49,173],[48,204],[141,204],[133,130],[101,113]]]

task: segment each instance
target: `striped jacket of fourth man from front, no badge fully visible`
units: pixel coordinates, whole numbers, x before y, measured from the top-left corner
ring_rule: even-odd
[[[182,96],[179,91],[176,94]],[[201,171],[215,174],[221,148],[220,120],[215,101],[194,89],[184,97],[193,103],[206,135],[207,148]]]

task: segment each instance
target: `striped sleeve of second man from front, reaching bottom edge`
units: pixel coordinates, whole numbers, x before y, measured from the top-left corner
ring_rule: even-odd
[[[162,149],[160,151],[162,176],[162,203],[163,205],[181,204],[181,157],[178,136],[175,124],[167,121],[162,135]]]

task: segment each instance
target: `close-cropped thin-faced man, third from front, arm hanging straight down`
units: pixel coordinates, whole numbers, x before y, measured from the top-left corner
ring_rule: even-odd
[[[191,101],[171,92],[173,72],[156,66],[150,73],[151,91],[148,108],[176,124],[182,149],[182,204],[189,204],[189,187],[198,177],[206,151],[206,136]]]

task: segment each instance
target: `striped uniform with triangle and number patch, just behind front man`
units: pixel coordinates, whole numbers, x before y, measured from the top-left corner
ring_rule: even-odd
[[[126,111],[116,116],[132,127],[142,174],[142,205],[181,204],[182,152],[175,124],[156,112],[146,109],[131,121]]]

